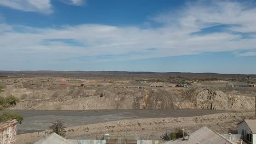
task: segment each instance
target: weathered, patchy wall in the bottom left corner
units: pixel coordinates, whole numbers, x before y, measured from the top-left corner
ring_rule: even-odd
[[[0,144],[16,144],[17,121],[0,124]]]

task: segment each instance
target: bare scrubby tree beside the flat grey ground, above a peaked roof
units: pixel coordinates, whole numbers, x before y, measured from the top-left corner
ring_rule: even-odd
[[[53,122],[53,125],[49,127],[51,130],[53,130],[53,133],[56,133],[60,136],[65,136],[66,130],[64,126],[63,119],[57,119],[57,121]]]

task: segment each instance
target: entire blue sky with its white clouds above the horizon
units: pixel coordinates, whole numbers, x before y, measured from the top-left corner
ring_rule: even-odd
[[[0,49],[0,70],[256,74],[256,2],[1,0]]]

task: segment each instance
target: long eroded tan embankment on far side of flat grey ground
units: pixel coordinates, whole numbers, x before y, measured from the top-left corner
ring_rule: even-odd
[[[69,86],[8,86],[3,96],[14,95],[21,102],[12,109],[211,109],[254,110],[255,92],[216,88],[122,88]]]

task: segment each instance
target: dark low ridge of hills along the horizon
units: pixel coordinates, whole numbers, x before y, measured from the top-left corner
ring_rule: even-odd
[[[256,77],[256,75],[244,74],[217,74],[217,73],[155,73],[148,71],[0,71],[0,77],[34,77],[34,76],[63,76],[63,77],[143,77],[143,78],[166,78],[166,77],[185,77],[185,78],[245,78],[247,76]]]

